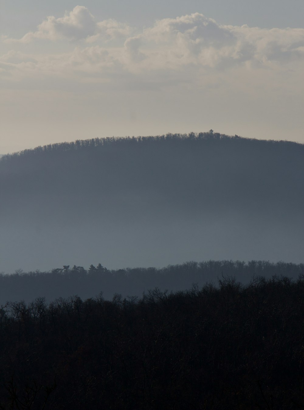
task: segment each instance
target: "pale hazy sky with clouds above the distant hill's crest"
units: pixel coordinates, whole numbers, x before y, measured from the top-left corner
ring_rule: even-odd
[[[304,143],[303,0],[0,1],[0,154],[216,132]]]

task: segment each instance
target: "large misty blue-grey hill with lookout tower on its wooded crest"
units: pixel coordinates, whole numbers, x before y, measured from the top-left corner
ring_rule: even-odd
[[[303,261],[304,146],[207,133],[0,159],[0,271]]]

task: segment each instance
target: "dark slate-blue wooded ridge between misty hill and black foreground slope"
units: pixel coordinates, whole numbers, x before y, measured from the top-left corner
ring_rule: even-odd
[[[189,289],[193,283],[203,286],[206,282],[216,284],[222,276],[231,276],[242,283],[249,283],[257,276],[271,278],[285,276],[296,279],[304,275],[304,264],[269,261],[206,261],[185,262],[157,268],[107,269],[101,264],[83,266],[65,265],[48,272],[23,272],[0,274],[0,303],[24,300],[31,302],[36,297],[52,301],[73,294],[91,298],[102,292],[111,300],[113,294],[142,296],[148,289],[158,287],[161,291],[177,292]]]

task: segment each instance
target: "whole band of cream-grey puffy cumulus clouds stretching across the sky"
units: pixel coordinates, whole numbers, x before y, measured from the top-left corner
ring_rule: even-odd
[[[25,55],[11,50],[0,59],[2,73],[68,73],[81,78],[108,75],[111,80],[125,72],[147,76],[155,71],[185,71],[186,75],[190,67],[196,74],[240,66],[282,70],[284,64],[304,61],[304,29],[219,25],[200,13],[165,18],[152,27],[133,30],[113,19],[96,22],[86,7],[77,6],[64,17],[48,17],[36,32],[14,41],[63,38],[85,40],[86,44],[80,42],[75,47],[72,43],[64,55]],[[107,43],[118,38],[114,45]],[[101,39],[105,40],[102,47],[88,44]],[[2,41],[13,40],[2,37]]]

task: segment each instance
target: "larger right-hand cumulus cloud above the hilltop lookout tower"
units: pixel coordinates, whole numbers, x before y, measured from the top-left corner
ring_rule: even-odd
[[[222,62],[230,66],[232,62],[250,60],[284,62],[302,55],[304,29],[218,25],[213,19],[194,13],[157,21],[154,27],[143,31],[142,44],[151,54],[153,51],[153,57],[156,53],[164,65],[172,67],[215,67]]]

